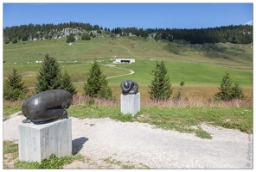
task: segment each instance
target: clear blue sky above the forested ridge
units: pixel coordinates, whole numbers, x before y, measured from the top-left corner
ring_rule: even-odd
[[[103,28],[215,28],[253,24],[253,3],[3,3],[3,28],[84,22]]]

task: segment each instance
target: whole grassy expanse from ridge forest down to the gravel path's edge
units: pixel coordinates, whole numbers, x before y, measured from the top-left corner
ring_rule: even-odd
[[[42,66],[44,55],[56,58],[61,71],[67,70],[78,90],[83,94],[89,69],[94,59],[108,78],[108,84],[116,97],[114,102],[92,101],[78,98],[68,110],[77,118],[106,118],[121,121],[147,122],[157,127],[180,132],[202,132],[201,123],[224,126],[253,133],[253,45],[230,43],[190,45],[183,40],[168,42],[140,37],[92,38],[76,40],[68,46],[66,39],[36,40],[3,45],[3,79],[13,68],[22,74],[22,79],[32,95],[36,75]],[[135,58],[132,64],[115,64],[116,58]],[[156,104],[148,94],[157,60],[163,60],[169,71],[174,97],[182,93],[182,101]],[[133,74],[129,75],[131,71]],[[246,95],[246,101],[213,102],[211,95],[218,91],[222,76],[228,71],[237,80]],[[141,111],[135,118],[119,113],[120,83],[131,79],[138,83],[141,93]],[[183,88],[180,83],[185,82]],[[22,101],[3,101],[3,116],[21,110]],[[198,126],[188,129],[188,126]],[[199,134],[200,135],[200,134]],[[204,138],[205,136],[198,136]]]

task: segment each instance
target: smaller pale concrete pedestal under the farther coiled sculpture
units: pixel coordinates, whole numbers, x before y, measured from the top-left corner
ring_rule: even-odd
[[[121,95],[121,113],[134,116],[140,111],[140,93],[136,95]]]

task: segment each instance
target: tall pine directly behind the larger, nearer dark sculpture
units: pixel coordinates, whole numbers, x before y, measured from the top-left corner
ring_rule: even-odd
[[[61,70],[55,58],[45,55],[36,79],[35,94],[50,89],[61,89]]]

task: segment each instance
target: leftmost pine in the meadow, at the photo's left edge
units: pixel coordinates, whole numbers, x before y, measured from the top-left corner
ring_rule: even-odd
[[[22,82],[22,75],[13,68],[12,74],[4,82],[3,98],[10,101],[22,99],[29,92],[27,86]]]

